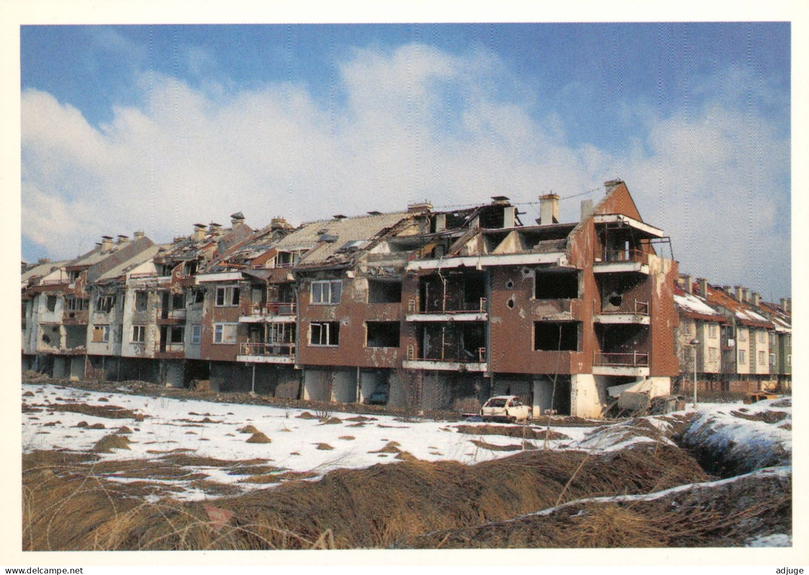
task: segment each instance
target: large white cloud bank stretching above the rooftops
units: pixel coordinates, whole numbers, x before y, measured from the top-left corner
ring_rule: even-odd
[[[325,104],[289,83],[223,95],[146,74],[138,83],[144,107],[118,107],[99,128],[50,94],[24,92],[23,233],[49,255],[71,257],[102,233],[146,229],[166,241],[196,221],[227,223],[239,210],[260,227],[277,215],[392,211],[414,199],[535,201],[615,175],[695,273],[713,277],[697,266],[717,245],[734,251],[728,266],[751,271],[743,241],[777,225],[774,200],[761,191],[787,170],[788,142],[760,117],[714,106],[650,118],[651,152],[633,146],[615,157],[563,145],[565,126],[555,116],[540,124],[527,96],[504,98],[524,86],[491,56],[411,44],[358,50],[338,72],[339,98]],[[752,229],[748,198],[758,206]],[[563,219],[576,219],[578,199],[561,209]],[[535,212],[528,208],[527,223]],[[717,213],[734,225],[718,229]],[[779,241],[765,239],[758,252],[769,258],[783,248]]]

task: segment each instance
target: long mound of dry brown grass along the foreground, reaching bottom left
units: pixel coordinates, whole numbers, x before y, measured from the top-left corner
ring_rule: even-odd
[[[404,455],[404,457],[407,457]],[[72,477],[72,476],[71,476]],[[557,502],[605,493],[646,493],[706,476],[676,447],[633,448],[615,454],[530,451],[467,466],[453,461],[398,464],[329,472],[321,481],[295,481],[219,499],[231,525],[210,529],[203,502],[161,500],[111,506],[109,493],[141,486],[96,485],[49,478],[30,492],[26,549],[270,549],[316,547],[331,533],[336,548],[388,548],[435,530],[502,521]],[[104,481],[104,480],[98,480]],[[76,497],[72,491],[79,490]],[[69,506],[53,506],[70,499]],[[117,503],[117,497],[115,499]],[[536,531],[545,531],[539,529]]]

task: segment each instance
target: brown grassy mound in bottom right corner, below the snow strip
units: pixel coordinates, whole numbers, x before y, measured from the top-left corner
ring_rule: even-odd
[[[731,547],[791,534],[791,476],[755,472],[731,481],[570,502],[539,514],[400,543],[408,548]]]

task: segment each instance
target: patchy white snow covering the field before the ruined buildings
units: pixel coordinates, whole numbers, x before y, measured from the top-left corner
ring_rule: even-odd
[[[102,460],[159,460],[167,453],[184,450],[195,456],[233,462],[269,460],[278,472],[311,472],[314,476],[322,476],[337,468],[394,463],[398,461],[397,451],[406,451],[419,460],[455,460],[473,464],[515,452],[498,451],[490,446],[517,449],[522,443],[522,439],[505,435],[460,433],[457,423],[404,422],[392,416],[379,415],[358,421],[360,418],[353,413],[332,413],[332,417],[340,422],[324,424],[316,418],[300,418],[303,409],[91,392],[53,384],[23,384],[22,393],[23,452],[59,449],[91,451],[100,439],[114,434],[121,426],[128,427],[132,431],[126,435],[131,442],[129,449],[100,453]],[[756,405],[742,405],[741,402],[703,404],[691,430],[694,437],[709,430],[718,430],[716,437],[710,440],[724,442],[722,445],[725,446],[735,442],[733,445],[737,449],[739,445],[748,446],[752,458],[756,457],[758,451],[772,451],[773,446],[780,446],[781,451],[790,453],[791,431],[784,427],[791,422],[791,407],[773,407],[772,404],[777,404],[777,401],[781,401],[781,404],[789,402],[771,400]],[[49,409],[65,404],[86,404],[99,408],[119,406],[131,410],[133,417],[112,419]],[[768,410],[786,415],[773,424],[739,418],[731,413],[755,416]],[[564,434],[566,439],[549,440],[547,447],[600,452],[627,447],[631,443],[667,441],[651,438],[648,430],[644,435],[646,428],[638,424],[643,420],[650,423],[648,428],[664,433],[671,426],[669,418],[660,416],[595,429],[592,426],[551,427],[557,433]],[[87,426],[78,427],[80,422],[86,422]],[[104,428],[90,429],[95,424],[102,424]],[[239,428],[248,425],[255,426],[271,443],[247,443],[251,434],[240,433]],[[532,429],[541,431],[544,427],[532,426]],[[395,442],[396,449],[379,452],[391,442]],[[472,442],[477,442],[477,445]],[[527,443],[534,447],[545,447],[542,439],[529,440]],[[244,476],[229,474],[221,467],[201,466],[197,470],[208,475],[210,481],[238,485],[242,490],[266,487],[244,483],[240,481]],[[115,479],[114,476],[107,478]],[[121,476],[119,481],[130,480]],[[182,479],[171,481],[184,486]],[[205,497],[205,493],[188,487],[184,492],[176,493],[175,497],[193,499]]]

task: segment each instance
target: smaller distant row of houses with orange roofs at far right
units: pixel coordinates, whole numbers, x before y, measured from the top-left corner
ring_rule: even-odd
[[[717,286],[681,275],[675,346],[680,388],[788,391],[792,374],[792,300],[765,302],[743,286]]]

